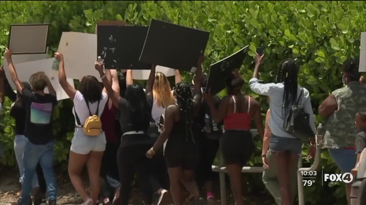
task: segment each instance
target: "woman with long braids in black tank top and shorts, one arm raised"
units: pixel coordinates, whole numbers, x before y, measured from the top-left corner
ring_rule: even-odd
[[[173,89],[176,104],[169,105],[165,110],[164,128],[154,146],[147,151],[146,156],[152,158],[156,151],[163,147],[167,162],[170,192],[175,205],[182,205],[182,183],[195,197],[196,203],[201,203],[194,170],[198,163],[199,148],[192,134],[194,113],[198,113],[201,100],[201,76],[203,56],[199,57],[196,70],[194,96],[191,87],[186,82],[179,82]],[[192,97],[193,96],[193,97]]]

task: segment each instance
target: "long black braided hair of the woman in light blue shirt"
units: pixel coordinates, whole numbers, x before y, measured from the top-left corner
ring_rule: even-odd
[[[298,90],[298,72],[299,69],[294,59],[285,59],[280,63],[276,81],[277,83],[284,83],[282,107],[285,108],[285,113],[289,105],[292,105],[294,102],[296,102]]]

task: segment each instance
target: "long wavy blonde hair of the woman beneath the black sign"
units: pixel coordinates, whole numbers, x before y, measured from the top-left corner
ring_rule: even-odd
[[[164,73],[156,72],[153,86],[153,96],[159,107],[168,107],[175,103],[168,78]]]

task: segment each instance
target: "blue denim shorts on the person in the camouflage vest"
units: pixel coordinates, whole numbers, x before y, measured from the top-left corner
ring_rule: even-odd
[[[328,149],[342,173],[350,173],[356,165],[355,150],[352,149]]]

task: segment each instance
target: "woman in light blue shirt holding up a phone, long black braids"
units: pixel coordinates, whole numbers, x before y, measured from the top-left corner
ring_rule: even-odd
[[[249,81],[249,86],[255,93],[269,96],[271,99],[269,102],[271,116],[269,127],[272,131],[272,136],[270,137],[269,150],[274,154],[273,157],[276,163],[281,190],[281,205],[292,205],[290,178],[288,176],[290,176],[293,167],[298,164],[302,140],[287,133],[283,128],[283,124],[287,113],[291,109],[291,105],[295,104],[300,98],[300,107],[309,114],[309,124],[315,133],[310,93],[306,88],[298,85],[299,70],[293,59],[286,59],[280,63],[276,77],[277,83],[259,83],[257,77],[262,58],[263,55],[255,56],[255,68],[253,78]],[[315,144],[315,137],[310,140]]]

